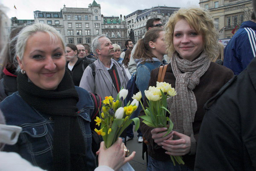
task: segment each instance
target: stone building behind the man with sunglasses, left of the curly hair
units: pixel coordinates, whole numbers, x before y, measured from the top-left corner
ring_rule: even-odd
[[[161,18],[161,22],[165,24],[172,13],[178,9],[180,8],[156,6],[151,9],[137,10],[126,15],[127,35],[129,35],[132,28],[134,31],[135,42],[137,42],[146,32],[146,23],[148,19],[154,17]]]

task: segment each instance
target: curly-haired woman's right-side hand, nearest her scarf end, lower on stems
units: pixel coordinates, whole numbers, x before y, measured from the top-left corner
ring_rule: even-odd
[[[183,156],[185,154],[188,154],[191,146],[190,137],[185,134],[178,133],[176,131],[172,132],[174,132],[174,135],[180,137],[180,139],[172,140],[173,137],[171,137],[168,140],[164,140],[163,143],[161,143],[161,145],[163,145],[162,148],[167,150],[166,154],[172,156]]]

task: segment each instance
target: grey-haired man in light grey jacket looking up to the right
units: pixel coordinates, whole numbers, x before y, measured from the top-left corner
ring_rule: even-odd
[[[102,34],[92,42],[92,51],[98,57],[95,64],[95,76],[91,67],[84,70],[80,87],[88,92],[99,94],[102,98],[116,98],[121,88],[126,88],[128,77],[124,68],[112,59],[114,51],[111,41]]]

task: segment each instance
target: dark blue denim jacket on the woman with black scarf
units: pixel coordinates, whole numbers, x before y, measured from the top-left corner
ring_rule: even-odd
[[[79,94],[79,102],[76,104],[79,111],[79,123],[86,144],[87,168],[94,170],[95,157],[91,150],[90,114],[93,113],[94,105],[90,94],[76,87]],[[35,108],[29,106],[15,92],[6,97],[0,103],[0,109],[6,118],[7,125],[17,125],[23,128],[18,142],[15,145],[6,145],[4,151],[16,152],[35,166],[48,171],[52,170],[52,141],[54,132],[54,120],[49,114],[39,113]]]

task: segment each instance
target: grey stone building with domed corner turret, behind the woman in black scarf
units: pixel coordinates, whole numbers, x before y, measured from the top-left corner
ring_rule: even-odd
[[[100,4],[93,0],[88,8],[67,8],[60,12],[34,11],[35,22],[46,23],[60,31],[65,43],[91,44],[94,37],[102,34]]]

